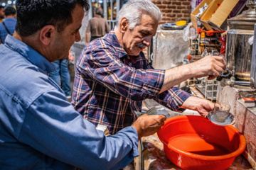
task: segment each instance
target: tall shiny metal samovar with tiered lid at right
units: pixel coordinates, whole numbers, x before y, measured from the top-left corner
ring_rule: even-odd
[[[228,20],[226,61],[228,69],[235,71],[235,78],[250,80],[252,45],[248,40],[254,34],[256,23],[256,0],[247,0],[247,11]]]

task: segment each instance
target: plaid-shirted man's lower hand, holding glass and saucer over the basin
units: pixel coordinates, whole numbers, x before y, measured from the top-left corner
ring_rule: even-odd
[[[203,98],[191,96],[186,99],[181,108],[188,108],[193,111],[198,111],[203,118],[206,118],[206,115],[213,110],[214,103]]]

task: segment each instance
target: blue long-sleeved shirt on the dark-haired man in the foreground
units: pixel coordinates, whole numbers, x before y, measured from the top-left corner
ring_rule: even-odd
[[[0,169],[122,169],[137,131],[106,137],[47,76],[53,64],[11,37],[0,45]]]

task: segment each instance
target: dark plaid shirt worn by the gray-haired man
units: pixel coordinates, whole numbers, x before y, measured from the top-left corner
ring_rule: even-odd
[[[128,56],[114,31],[90,42],[76,67],[75,110],[95,125],[107,125],[111,134],[132,125],[146,98],[177,111],[190,96],[176,87],[159,94],[165,71],[151,67],[143,52]]]

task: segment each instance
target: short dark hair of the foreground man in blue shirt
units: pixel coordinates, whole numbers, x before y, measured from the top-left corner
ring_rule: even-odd
[[[72,23],[72,12],[76,5],[90,8],[87,0],[17,0],[16,32],[26,37],[47,25],[55,26],[58,32]]]

